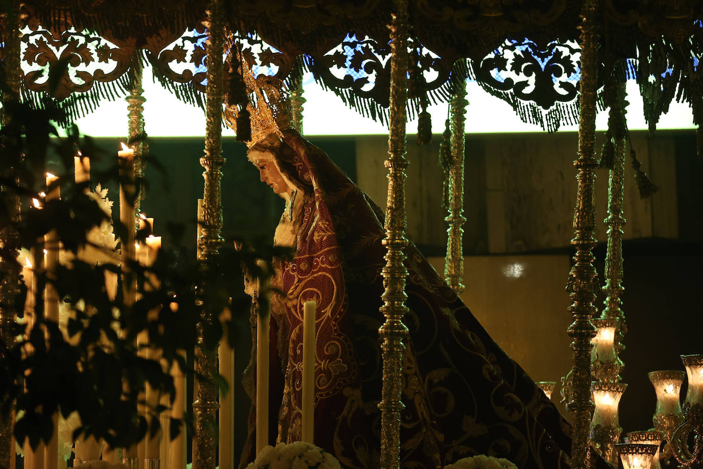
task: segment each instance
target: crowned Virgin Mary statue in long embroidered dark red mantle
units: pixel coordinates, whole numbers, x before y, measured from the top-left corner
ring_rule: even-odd
[[[252,82],[253,79],[250,80]],[[259,77],[249,160],[285,198],[274,242],[269,441],[295,442],[302,420],[302,314],[317,302],[314,443],[343,468],[378,468],[382,362],[378,329],[384,214],[322,150],[292,129],[280,84]],[[236,108],[226,121],[236,126]],[[567,468],[570,427],[522,368],[409,243],[401,467],[441,468],[466,456],[518,468]],[[254,333],[254,342],[256,340]],[[255,345],[254,345],[255,347]],[[254,348],[255,349],[255,348]],[[255,402],[255,354],[245,387]],[[255,404],[242,464],[253,461]]]

